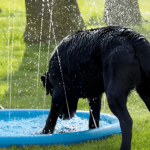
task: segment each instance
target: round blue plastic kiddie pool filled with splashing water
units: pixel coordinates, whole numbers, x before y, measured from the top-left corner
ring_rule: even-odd
[[[54,134],[37,135],[46,122],[47,109],[0,110],[0,148],[29,145],[71,145],[121,134],[118,119],[101,113],[100,128],[88,130],[89,112],[77,111],[70,121],[58,119]]]

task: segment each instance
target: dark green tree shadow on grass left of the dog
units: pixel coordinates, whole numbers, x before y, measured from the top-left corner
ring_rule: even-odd
[[[21,65],[12,74],[9,90],[2,97],[5,108],[50,108],[51,97],[45,95],[41,75],[48,69],[54,45],[26,45]],[[10,77],[11,79],[11,77]],[[7,81],[7,78],[3,79]]]

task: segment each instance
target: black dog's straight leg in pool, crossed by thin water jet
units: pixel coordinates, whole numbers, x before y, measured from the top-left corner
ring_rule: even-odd
[[[89,97],[88,101],[90,107],[89,129],[93,129],[99,127],[101,96]]]

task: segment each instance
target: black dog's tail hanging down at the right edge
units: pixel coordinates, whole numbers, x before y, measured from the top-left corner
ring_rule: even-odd
[[[135,49],[135,57],[139,60],[141,69],[150,75],[150,43],[142,35],[138,34],[132,41]]]

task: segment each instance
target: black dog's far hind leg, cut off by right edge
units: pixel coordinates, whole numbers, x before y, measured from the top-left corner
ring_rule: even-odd
[[[136,91],[150,111],[150,79],[143,77],[141,84],[136,87]]]

